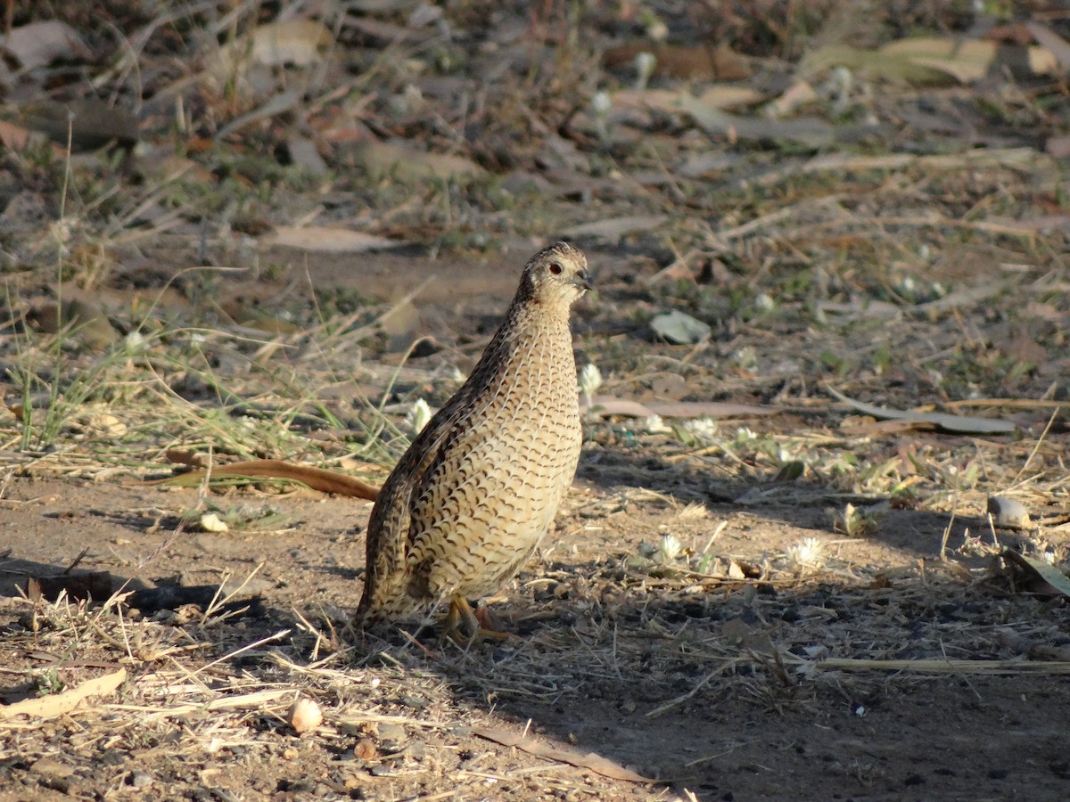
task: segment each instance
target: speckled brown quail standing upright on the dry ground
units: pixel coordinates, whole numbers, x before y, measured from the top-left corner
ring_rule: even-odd
[[[569,310],[593,289],[583,252],[533,256],[471,375],[379,492],[355,623],[449,603],[445,634],[482,631],[469,604],[495,592],[552,526],[582,445]]]

